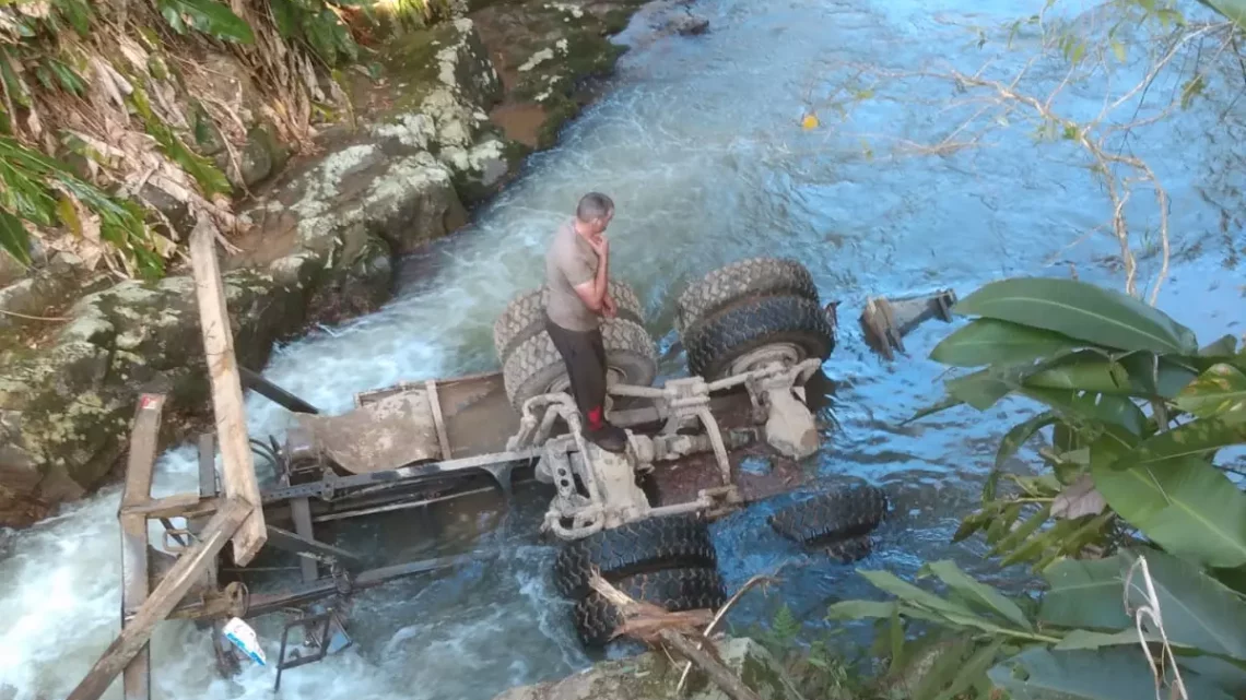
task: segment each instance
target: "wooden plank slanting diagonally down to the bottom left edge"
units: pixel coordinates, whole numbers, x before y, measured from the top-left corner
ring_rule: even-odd
[[[117,674],[151,640],[156,624],[167,618],[177,607],[191,585],[194,584],[196,577],[203,573],[204,567],[221,553],[253,509],[254,506],[245,501],[228,499],[224,502],[221,511],[212,516],[203,532],[199,533],[198,542],[178,558],[156,590],[138,608],[135,617],[122,627],[121,635],[112,640],[112,644],[91,666],[86,676],[69,694],[67,700],[97,700],[108,690],[108,685],[117,678]]]

